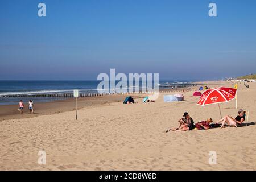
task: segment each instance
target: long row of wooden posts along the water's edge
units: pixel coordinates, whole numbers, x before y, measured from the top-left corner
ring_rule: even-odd
[[[196,91],[196,89],[189,89],[189,91]],[[159,91],[159,93],[172,93],[180,92],[180,90],[168,90],[168,91]],[[131,94],[154,94],[157,92],[121,92],[121,93],[79,93],[79,97],[98,97],[98,96],[107,96],[107,95],[131,95]],[[55,93],[55,94],[10,94],[0,97],[73,97],[73,93]]]

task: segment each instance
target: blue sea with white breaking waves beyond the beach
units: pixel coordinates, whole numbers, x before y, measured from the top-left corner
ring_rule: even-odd
[[[98,93],[97,87],[101,81],[0,81],[0,105],[17,104],[19,100],[27,102],[30,97],[7,97],[11,95],[38,95],[38,94],[57,94],[57,93],[73,93],[74,89],[78,89],[79,93]],[[117,81],[118,82],[118,81]],[[117,84],[116,82],[116,84]],[[192,85],[193,81],[159,81],[159,89],[170,89],[172,87],[185,87]],[[110,85],[110,84],[109,84]],[[128,83],[127,83],[128,85]],[[141,81],[139,85],[133,85],[134,88],[142,89]],[[152,83],[154,86],[154,82]],[[42,98],[33,97],[35,102],[50,102],[55,100],[64,100],[66,98]]]

